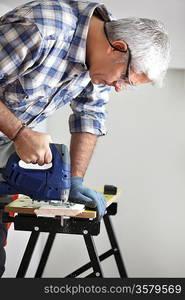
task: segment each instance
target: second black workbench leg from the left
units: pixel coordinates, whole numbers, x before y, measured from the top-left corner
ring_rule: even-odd
[[[51,251],[51,247],[53,245],[54,239],[55,239],[56,233],[50,233],[47,239],[47,242],[45,244],[44,250],[42,252],[42,256],[37,268],[37,271],[35,273],[35,278],[40,278],[42,277],[42,274],[44,272],[50,251]]]

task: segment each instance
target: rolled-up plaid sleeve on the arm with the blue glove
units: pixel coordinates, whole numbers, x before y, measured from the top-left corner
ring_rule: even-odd
[[[82,93],[72,100],[73,114],[69,117],[70,132],[89,132],[97,136],[107,134],[105,121],[110,87],[93,85],[91,82]]]

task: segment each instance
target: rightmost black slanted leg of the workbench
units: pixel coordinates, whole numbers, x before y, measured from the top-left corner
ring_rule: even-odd
[[[108,234],[108,237],[109,237],[109,240],[110,240],[110,243],[111,243],[111,247],[114,251],[114,257],[115,257],[115,260],[116,260],[116,264],[117,264],[117,267],[118,267],[120,277],[121,278],[127,278],[127,272],[126,272],[126,269],[125,269],[125,266],[124,266],[124,263],[123,263],[123,259],[122,259],[122,256],[121,256],[121,252],[120,252],[120,249],[119,249],[119,246],[118,246],[118,242],[117,242],[117,239],[116,239],[113,227],[112,227],[110,216],[105,215],[103,217],[103,220],[104,220],[105,227],[106,227],[106,230],[107,230],[107,234]]]

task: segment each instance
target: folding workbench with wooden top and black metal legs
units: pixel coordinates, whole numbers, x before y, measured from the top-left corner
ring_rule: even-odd
[[[104,192],[103,189],[98,190],[102,191],[102,193]],[[7,204],[4,208],[3,221],[14,223],[14,230],[31,232],[16,277],[22,278],[26,276],[39,235],[41,232],[48,232],[48,239],[42,252],[35,278],[40,278],[43,275],[57,233],[82,235],[90,258],[88,263],[66,277],[77,277],[90,268],[93,269],[93,272],[86,277],[104,277],[101,261],[113,255],[120,277],[127,278],[121,251],[110,219],[110,216],[114,216],[117,213],[117,199],[120,197],[120,192],[118,191],[114,195],[104,194],[104,196],[107,200],[107,213],[103,217],[103,221],[111,248],[101,255],[98,255],[93,240],[93,236],[100,234],[102,222],[96,221],[95,210],[85,209],[78,213],[58,210],[56,213],[56,211],[52,211],[51,206],[49,209],[47,207],[44,210],[40,209],[39,205],[33,205],[32,199],[24,195],[19,195],[18,199]]]

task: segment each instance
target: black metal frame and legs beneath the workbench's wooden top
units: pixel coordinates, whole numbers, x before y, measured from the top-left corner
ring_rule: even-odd
[[[112,205],[113,204],[114,203],[112,203]],[[114,214],[116,214],[115,205],[112,208],[112,210],[110,211],[110,215],[114,215]],[[45,219],[45,218],[40,219],[40,218],[29,217],[27,220],[27,218],[23,218],[22,216],[16,217],[16,222],[14,221],[16,224],[16,226],[15,226],[16,230],[31,230],[32,231],[33,226],[34,226],[34,228],[38,227],[38,231],[36,231],[36,229],[35,229],[34,231],[32,231],[32,233],[30,235],[28,244],[26,246],[26,250],[24,252],[21,264],[19,266],[19,269],[18,269],[18,272],[16,275],[17,278],[25,277],[25,274],[29,267],[31,257],[32,257],[32,254],[33,254],[33,251],[34,251],[35,245],[37,243],[40,232],[49,232],[49,236],[48,236],[47,242],[45,244],[38,268],[36,270],[35,278],[42,277],[42,274],[44,272],[44,268],[46,266],[56,233],[83,234],[84,241],[85,241],[87,251],[89,254],[90,261],[87,264],[85,264],[84,266],[82,266],[81,268],[78,268],[77,270],[73,271],[67,277],[73,277],[73,278],[77,277],[80,274],[87,271],[88,269],[92,268],[93,271],[91,271],[91,273],[86,277],[103,278],[104,274],[103,274],[100,262],[105,260],[106,258],[110,257],[111,255],[114,255],[120,277],[127,278],[127,272],[126,272],[126,269],[125,269],[125,266],[123,263],[121,252],[120,252],[118,242],[116,240],[116,236],[115,236],[112,224],[111,224],[111,219],[110,219],[110,216],[108,213],[104,216],[103,219],[104,219],[106,231],[107,231],[107,234],[108,234],[108,237],[110,240],[111,249],[109,249],[105,253],[101,254],[100,256],[97,253],[95,243],[94,243],[94,240],[92,237],[93,235],[98,235],[100,233],[100,226],[94,227],[93,223],[89,220],[83,221],[83,223],[81,220],[75,220],[75,223],[74,223],[73,218],[71,218],[71,220],[69,221],[69,224],[68,224],[70,226],[67,227],[68,230],[63,230],[63,227],[57,225],[58,223],[56,223],[56,219],[53,219],[53,220],[50,220],[50,219],[47,222],[47,219]],[[48,223],[49,223],[49,225],[48,225]],[[51,226],[51,224],[53,224],[53,226]],[[74,224],[75,224],[75,226],[74,226]],[[86,230],[84,230],[84,226],[85,226]],[[52,232],[51,232],[51,228],[52,228]],[[62,228],[62,230],[61,230],[61,228]],[[69,228],[70,228],[70,230],[69,230]]]

